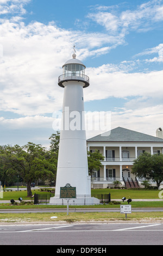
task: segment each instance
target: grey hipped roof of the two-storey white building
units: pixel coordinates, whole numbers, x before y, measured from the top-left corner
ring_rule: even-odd
[[[163,139],[141,132],[135,132],[122,127],[117,127],[111,131],[97,135],[87,142],[162,142]]]

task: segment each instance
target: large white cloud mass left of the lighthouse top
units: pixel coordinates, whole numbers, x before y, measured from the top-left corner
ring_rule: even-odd
[[[58,87],[62,65],[71,57],[76,40],[78,58],[105,54],[116,47],[118,37],[102,33],[66,31],[55,23],[44,25],[1,20],[1,108],[22,115],[53,112],[62,107],[63,90]],[[105,43],[111,46],[103,47]]]

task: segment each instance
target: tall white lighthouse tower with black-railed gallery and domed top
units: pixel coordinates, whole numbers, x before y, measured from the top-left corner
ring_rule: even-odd
[[[72,57],[62,66],[63,74],[58,81],[64,88],[64,100],[55,197],[49,203],[66,204],[60,197],[60,188],[68,184],[76,188],[76,198],[69,204],[98,204],[99,200],[91,197],[84,125],[83,88],[89,86],[89,77],[85,75],[85,65],[76,59],[75,50]]]

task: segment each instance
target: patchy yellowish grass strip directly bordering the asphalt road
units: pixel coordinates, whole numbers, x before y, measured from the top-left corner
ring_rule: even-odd
[[[57,218],[51,218],[56,216]],[[28,214],[0,214],[0,223],[23,223],[23,222],[105,222],[105,221],[162,221],[163,212],[136,212],[120,214],[118,212],[54,212],[54,213],[28,213]]]

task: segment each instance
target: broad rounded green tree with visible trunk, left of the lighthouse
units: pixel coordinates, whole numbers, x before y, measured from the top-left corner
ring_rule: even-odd
[[[35,179],[54,178],[55,162],[40,144],[28,142],[20,147],[7,146],[2,155],[3,167],[8,176],[19,175],[27,184],[27,196],[32,196],[30,184]]]

